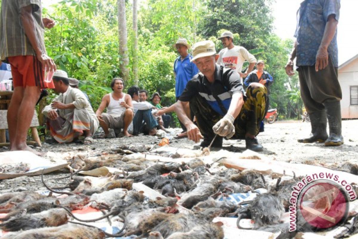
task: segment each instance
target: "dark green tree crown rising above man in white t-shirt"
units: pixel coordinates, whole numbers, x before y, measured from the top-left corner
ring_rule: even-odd
[[[272,32],[273,17],[270,5],[273,0],[206,0],[198,32],[203,38],[217,37],[220,29],[239,34],[240,45],[247,49],[258,48],[258,39]]]

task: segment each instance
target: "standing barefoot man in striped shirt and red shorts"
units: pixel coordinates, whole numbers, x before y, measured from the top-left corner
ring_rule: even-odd
[[[10,150],[30,150],[26,136],[39,99],[40,90],[54,88],[44,79],[45,69],[56,66],[47,56],[44,27],[52,19],[42,18],[41,0],[3,0],[0,19],[1,60],[8,59],[13,75],[14,93],[8,109]]]

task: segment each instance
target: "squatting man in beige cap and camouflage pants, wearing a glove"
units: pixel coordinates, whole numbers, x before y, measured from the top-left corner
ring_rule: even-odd
[[[189,139],[195,142],[204,139],[202,147],[208,147],[217,134],[212,147],[222,147],[226,137],[245,139],[246,148],[262,151],[256,135],[265,116],[267,90],[253,82],[245,92],[237,71],[216,64],[217,58],[212,41],[195,43],[192,61],[200,72],[187,83],[179,100],[158,114],[174,110],[186,126]],[[185,114],[187,102],[197,125]]]

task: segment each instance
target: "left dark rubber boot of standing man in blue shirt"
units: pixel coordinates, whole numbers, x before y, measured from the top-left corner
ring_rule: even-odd
[[[325,110],[315,111],[309,114],[311,120],[311,135],[309,138],[297,139],[299,143],[323,143],[328,139],[327,116]]]

